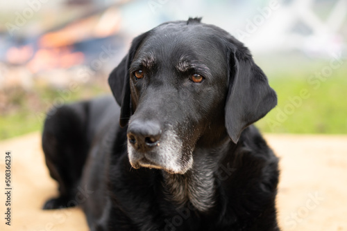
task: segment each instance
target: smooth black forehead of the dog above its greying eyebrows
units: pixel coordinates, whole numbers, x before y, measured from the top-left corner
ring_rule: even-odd
[[[151,30],[135,57],[178,62],[194,59],[220,66],[226,61],[225,46],[218,31],[205,24],[164,24]]]

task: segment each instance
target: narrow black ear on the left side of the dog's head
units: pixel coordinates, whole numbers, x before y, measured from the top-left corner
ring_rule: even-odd
[[[108,77],[108,84],[110,85],[112,94],[115,96],[119,106],[121,106],[121,115],[119,118],[121,127],[128,124],[131,115],[130,64],[133,62],[137,48],[139,48],[139,45],[147,34],[148,32],[133,39],[128,54],[121,60],[118,66],[113,69]]]

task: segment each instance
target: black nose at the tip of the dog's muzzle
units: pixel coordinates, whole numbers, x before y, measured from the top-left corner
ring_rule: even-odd
[[[149,151],[158,146],[161,134],[159,122],[153,120],[133,120],[128,127],[128,140],[139,151]]]

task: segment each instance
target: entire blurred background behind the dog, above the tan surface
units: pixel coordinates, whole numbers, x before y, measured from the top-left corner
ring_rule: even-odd
[[[347,0],[0,1],[0,139],[51,107],[110,93],[133,37],[203,17],[243,41],[278,93],[268,133],[347,133]]]

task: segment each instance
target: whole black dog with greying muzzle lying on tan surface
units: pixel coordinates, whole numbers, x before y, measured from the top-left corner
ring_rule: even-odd
[[[276,93],[241,42],[200,19],[161,24],[109,83],[121,107],[97,98],[46,119],[60,196],[45,209],[79,204],[91,230],[279,230],[278,158],[249,126]]]

